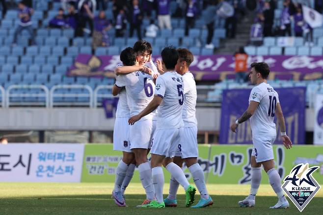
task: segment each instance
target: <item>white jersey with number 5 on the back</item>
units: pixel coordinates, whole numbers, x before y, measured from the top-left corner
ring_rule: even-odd
[[[172,129],[184,126],[182,110],[184,103],[183,78],[177,72],[166,72],[156,80],[155,96],[162,99],[157,113],[156,129]]]

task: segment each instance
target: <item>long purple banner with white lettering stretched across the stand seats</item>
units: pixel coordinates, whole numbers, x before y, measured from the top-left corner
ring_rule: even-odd
[[[154,55],[154,62],[159,59]],[[190,71],[195,80],[211,81],[233,79],[235,62],[232,55],[195,55]],[[323,78],[322,56],[249,56],[248,65],[252,62],[267,62],[270,67],[269,80],[314,80]],[[94,76],[113,78],[114,69],[120,63],[118,55],[95,56],[79,54],[74,65],[69,69],[69,76]]]

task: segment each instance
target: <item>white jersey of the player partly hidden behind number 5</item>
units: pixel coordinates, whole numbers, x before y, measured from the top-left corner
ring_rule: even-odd
[[[184,127],[197,126],[195,117],[196,107],[196,84],[193,74],[190,72],[185,73],[183,76],[184,81],[184,107],[183,107],[183,121]]]

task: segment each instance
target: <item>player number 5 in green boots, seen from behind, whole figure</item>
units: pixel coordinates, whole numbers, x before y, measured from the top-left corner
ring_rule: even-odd
[[[173,158],[183,130],[182,109],[184,103],[183,78],[175,71],[178,52],[172,47],[166,47],[161,52],[162,66],[165,71],[156,80],[155,96],[149,105],[139,114],[129,119],[134,125],[142,117],[159,107],[157,113],[157,128],[153,135],[151,148],[152,179],[156,200],[142,207],[164,208],[162,190],[164,175],[162,164],[165,157]],[[194,202],[196,189],[189,185],[183,170],[174,162],[165,163],[166,169],[186,190],[186,206]]]

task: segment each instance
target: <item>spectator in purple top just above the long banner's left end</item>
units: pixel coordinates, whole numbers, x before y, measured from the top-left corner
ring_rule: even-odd
[[[98,46],[109,46],[109,37],[107,31],[111,28],[111,24],[106,18],[106,13],[102,10],[99,16],[94,18],[93,48]]]

